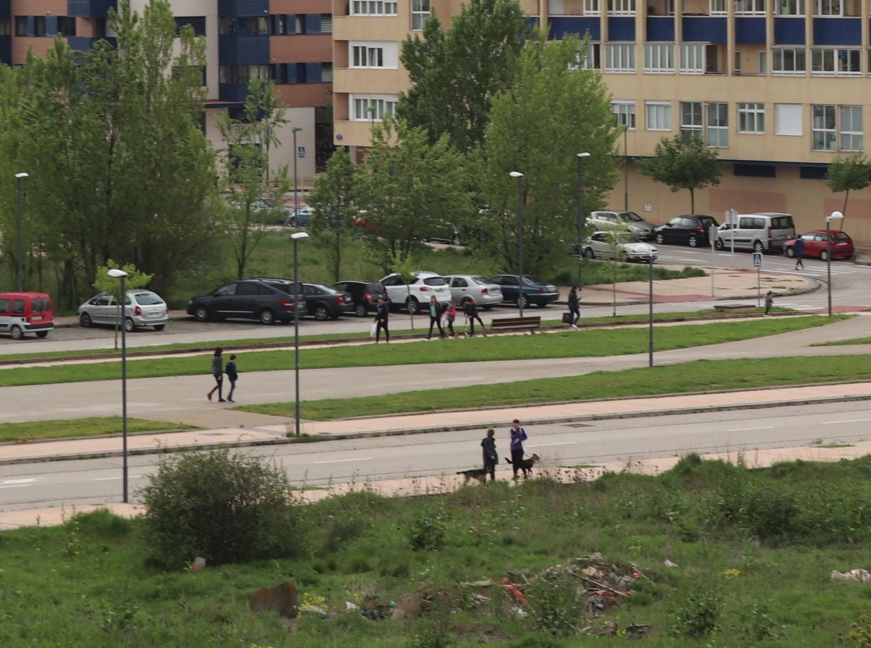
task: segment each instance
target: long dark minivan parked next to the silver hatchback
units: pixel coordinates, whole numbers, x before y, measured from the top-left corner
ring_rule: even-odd
[[[306,314],[305,298],[294,297],[294,282],[284,280],[243,279],[215,288],[211,293],[192,297],[187,314],[198,321],[245,319],[262,324],[294,319],[294,307],[300,304],[300,317]]]

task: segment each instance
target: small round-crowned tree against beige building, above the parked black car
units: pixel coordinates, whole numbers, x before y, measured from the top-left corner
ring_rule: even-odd
[[[719,185],[723,172],[717,162],[717,152],[707,148],[701,138],[675,135],[662,138],[653,151],[653,157],[639,159],[638,171],[655,182],[671,187],[672,192],[688,189],[690,213],[696,213],[696,189]]]

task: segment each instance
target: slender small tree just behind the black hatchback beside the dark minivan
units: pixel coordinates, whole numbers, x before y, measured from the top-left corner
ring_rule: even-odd
[[[327,160],[327,171],[314,179],[308,204],[314,209],[312,236],[323,244],[333,280],[341,274],[342,233],[354,217],[354,164],[345,151],[336,151]]]

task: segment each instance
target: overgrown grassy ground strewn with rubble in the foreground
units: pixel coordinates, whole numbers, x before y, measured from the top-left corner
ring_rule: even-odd
[[[307,507],[299,557],[193,572],[154,567],[141,521],[75,516],[0,533],[0,645],[865,648],[868,584],[830,574],[868,566],[869,470],[869,457],[749,470],[691,456],[655,477],[359,492]],[[596,585],[538,578],[593,552],[607,570],[642,575],[618,586],[628,597],[604,597],[614,606],[597,617],[583,609]],[[523,617],[503,577],[523,589]],[[287,580],[330,616],[303,614],[288,631],[249,610],[246,592]],[[479,580],[496,585],[463,585]],[[391,601],[406,618],[389,619]],[[640,640],[576,630],[606,624],[650,628]]]

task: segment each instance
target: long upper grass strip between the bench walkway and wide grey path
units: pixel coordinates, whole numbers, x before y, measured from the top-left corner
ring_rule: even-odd
[[[656,334],[656,348],[663,351],[747,340],[764,335],[820,327],[836,320],[837,318],[826,317],[796,317],[661,327]],[[487,339],[416,341],[395,345],[303,348],[300,349],[300,368],[382,367],[436,362],[601,357],[643,353],[647,350],[647,345],[648,332],[644,328],[587,329],[580,332],[565,331],[523,337],[508,335],[492,336]],[[290,368],[289,353],[288,350],[280,350],[246,354],[244,371],[250,373]],[[209,359],[205,354],[201,357],[145,358],[127,362],[127,377],[131,379],[198,375],[208,373],[208,370]],[[75,366],[10,368],[0,371],[0,387],[115,380],[119,375],[118,361]]]

